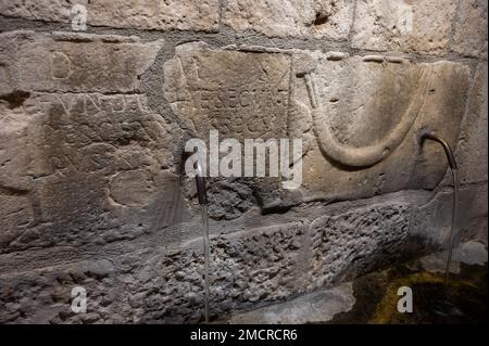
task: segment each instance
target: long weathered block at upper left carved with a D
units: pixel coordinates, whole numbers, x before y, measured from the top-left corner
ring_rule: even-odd
[[[162,41],[92,34],[12,31],[0,35],[3,93],[135,92]]]

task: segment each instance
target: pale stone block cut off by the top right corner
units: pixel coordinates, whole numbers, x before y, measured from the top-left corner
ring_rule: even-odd
[[[452,49],[466,56],[487,59],[487,1],[460,1]]]

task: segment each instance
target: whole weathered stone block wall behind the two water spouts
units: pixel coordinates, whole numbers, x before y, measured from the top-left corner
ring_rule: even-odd
[[[300,189],[209,181],[222,318],[444,246],[427,128],[487,239],[487,1],[1,1],[0,124],[3,323],[202,321],[186,140],[302,139]]]

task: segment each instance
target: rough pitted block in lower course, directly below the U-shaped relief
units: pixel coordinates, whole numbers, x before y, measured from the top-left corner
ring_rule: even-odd
[[[373,205],[340,215],[326,215],[310,226],[312,268],[309,289],[366,272],[401,255],[410,229],[410,205]]]

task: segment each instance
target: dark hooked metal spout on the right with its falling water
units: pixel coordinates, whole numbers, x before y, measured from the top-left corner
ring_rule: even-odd
[[[419,145],[423,145],[423,142],[425,140],[431,140],[437,143],[439,143],[444,151],[444,154],[447,156],[450,170],[452,171],[452,178],[453,178],[453,203],[452,203],[452,223],[450,226],[450,234],[449,234],[449,244],[448,244],[448,254],[447,254],[447,266],[444,270],[444,283],[448,283],[449,275],[450,275],[450,265],[452,262],[452,252],[453,252],[453,235],[454,235],[454,227],[456,221],[456,212],[457,212],[457,201],[459,201],[459,174],[457,174],[457,165],[455,162],[455,156],[453,155],[453,151],[450,148],[450,144],[437,136],[434,131],[422,129],[422,131],[418,133],[418,142]]]

